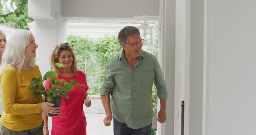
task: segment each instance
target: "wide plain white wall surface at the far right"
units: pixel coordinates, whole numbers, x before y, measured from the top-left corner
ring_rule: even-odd
[[[207,0],[206,11],[205,135],[255,135],[256,1]]]

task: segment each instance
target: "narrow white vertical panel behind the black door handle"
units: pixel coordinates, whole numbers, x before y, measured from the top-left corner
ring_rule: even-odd
[[[181,134],[181,101],[184,100],[184,134],[189,132],[190,0],[176,0],[174,135]]]

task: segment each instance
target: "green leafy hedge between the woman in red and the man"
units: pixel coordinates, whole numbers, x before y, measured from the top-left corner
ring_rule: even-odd
[[[90,87],[88,94],[99,95],[105,64],[122,50],[117,36],[105,35],[103,38],[93,42],[89,40],[89,37],[69,35],[68,42],[74,49],[78,69],[84,71],[87,77],[87,83]]]

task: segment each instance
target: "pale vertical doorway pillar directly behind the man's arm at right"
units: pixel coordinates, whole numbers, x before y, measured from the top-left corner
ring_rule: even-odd
[[[158,123],[157,135],[174,135],[175,0],[160,0],[159,62],[168,92],[167,121]],[[158,111],[160,109],[158,100]]]

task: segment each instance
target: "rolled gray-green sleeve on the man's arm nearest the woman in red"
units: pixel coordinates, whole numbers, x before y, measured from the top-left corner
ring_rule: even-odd
[[[110,70],[109,64],[106,64],[104,80],[102,87],[100,88],[101,95],[110,95],[114,88],[114,78],[112,76],[112,72]]]

